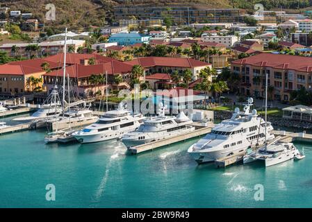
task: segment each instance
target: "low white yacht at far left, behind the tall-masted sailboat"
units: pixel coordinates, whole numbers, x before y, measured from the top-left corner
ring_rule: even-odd
[[[42,121],[46,123],[46,121],[49,119],[55,119],[55,117],[62,112],[63,109],[62,104],[60,103],[60,98],[58,96],[58,90],[57,87],[54,87],[51,94],[49,94],[48,98],[40,106],[38,111],[34,112],[30,117],[17,117],[13,119],[13,121],[18,121],[21,123]]]

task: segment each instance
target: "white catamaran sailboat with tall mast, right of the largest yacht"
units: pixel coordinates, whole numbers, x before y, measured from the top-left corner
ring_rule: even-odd
[[[267,123],[268,117],[268,74],[265,77],[265,123]],[[267,124],[265,124],[265,143],[260,148],[256,149],[252,153],[249,153],[243,157],[243,163],[261,161],[265,163],[265,167],[270,167],[281,162],[286,162],[295,157],[302,157],[298,149],[293,143],[278,142],[275,139],[274,142],[268,144],[266,137]]]

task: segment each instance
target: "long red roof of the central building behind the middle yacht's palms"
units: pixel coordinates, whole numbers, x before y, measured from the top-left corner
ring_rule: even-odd
[[[194,60],[192,58],[172,58],[172,57],[154,57],[154,56],[135,58],[134,60],[124,63],[129,65],[141,65],[142,67],[145,68],[155,66],[192,68],[211,65],[210,63]]]

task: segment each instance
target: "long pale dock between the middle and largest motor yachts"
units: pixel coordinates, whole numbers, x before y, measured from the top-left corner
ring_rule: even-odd
[[[170,144],[186,141],[195,137],[201,137],[202,135],[206,135],[207,133],[211,132],[211,128],[213,128],[213,123],[210,122],[203,125],[203,123],[195,122],[194,124],[190,124],[190,126],[195,126],[195,130],[191,133],[187,133],[186,135],[177,135],[166,139],[160,139],[155,142],[149,142],[147,144],[133,146],[128,148],[128,151],[130,151],[131,154],[138,154],[146,151],[153,151],[156,148],[169,146]]]

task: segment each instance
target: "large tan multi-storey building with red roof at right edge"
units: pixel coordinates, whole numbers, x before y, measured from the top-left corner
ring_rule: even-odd
[[[231,62],[231,71],[241,76],[238,88],[246,96],[265,96],[265,75],[270,99],[289,101],[290,92],[305,87],[311,89],[312,58],[261,53]]]

